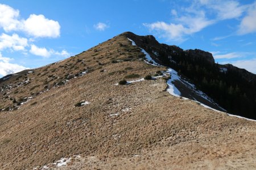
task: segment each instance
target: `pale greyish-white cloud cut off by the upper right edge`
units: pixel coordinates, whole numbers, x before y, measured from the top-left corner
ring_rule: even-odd
[[[256,3],[249,8],[247,15],[242,19],[239,25],[238,35],[253,32],[256,32]]]

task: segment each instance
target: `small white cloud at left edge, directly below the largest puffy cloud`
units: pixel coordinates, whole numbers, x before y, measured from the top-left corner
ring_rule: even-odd
[[[5,33],[2,33],[0,36],[0,50],[10,48],[13,50],[25,50],[25,47],[28,46],[27,39],[19,37],[16,33],[13,33],[12,36],[9,36]]]

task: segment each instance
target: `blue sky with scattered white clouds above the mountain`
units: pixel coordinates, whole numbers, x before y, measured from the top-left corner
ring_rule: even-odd
[[[119,33],[212,52],[256,73],[256,1],[0,2],[0,77],[74,56]]]

